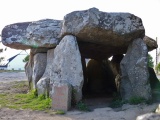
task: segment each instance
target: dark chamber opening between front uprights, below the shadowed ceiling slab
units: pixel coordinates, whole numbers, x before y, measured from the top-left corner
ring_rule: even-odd
[[[89,109],[106,107],[115,97],[120,96],[120,61],[123,55],[114,55],[109,59],[84,59],[82,57],[84,83],[82,101]]]

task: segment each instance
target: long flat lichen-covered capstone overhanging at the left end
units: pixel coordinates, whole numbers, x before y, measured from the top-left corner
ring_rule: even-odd
[[[2,30],[2,43],[14,49],[53,48],[60,40],[60,30],[60,20],[15,23]]]

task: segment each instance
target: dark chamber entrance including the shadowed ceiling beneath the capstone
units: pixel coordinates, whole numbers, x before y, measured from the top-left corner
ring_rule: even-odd
[[[119,93],[120,62],[123,54],[106,53],[106,46],[79,42],[84,83],[82,100],[92,108],[108,106]]]

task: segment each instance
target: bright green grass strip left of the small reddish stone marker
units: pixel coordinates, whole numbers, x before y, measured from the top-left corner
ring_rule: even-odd
[[[0,107],[46,110],[51,108],[51,99],[43,95],[38,97],[36,91],[28,94],[0,94]]]

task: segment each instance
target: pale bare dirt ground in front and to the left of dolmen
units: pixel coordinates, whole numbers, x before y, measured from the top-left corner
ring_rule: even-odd
[[[0,93],[13,92],[11,81],[24,81],[24,72],[0,73]],[[27,91],[24,89],[25,91]],[[16,91],[16,92],[25,92]],[[120,108],[108,107],[109,98],[88,99],[88,105],[92,108],[90,112],[82,112],[72,109],[65,115],[56,115],[44,111],[14,110],[0,107],[0,120],[136,120],[138,115],[153,112],[158,103],[152,105],[124,104]],[[92,104],[91,104],[92,103]]]

